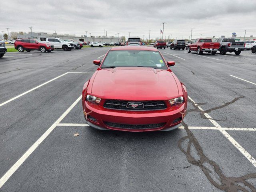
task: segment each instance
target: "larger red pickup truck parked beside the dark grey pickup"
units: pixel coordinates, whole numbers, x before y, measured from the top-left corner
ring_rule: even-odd
[[[195,39],[192,44],[188,45],[188,53],[196,51],[198,55],[203,52],[215,55],[220,48],[220,43],[212,42],[212,39]]]

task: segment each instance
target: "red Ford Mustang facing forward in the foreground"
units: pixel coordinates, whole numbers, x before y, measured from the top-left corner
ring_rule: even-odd
[[[88,124],[101,130],[174,130],[187,108],[187,92],[152,47],[111,48],[84,84],[82,105]]]

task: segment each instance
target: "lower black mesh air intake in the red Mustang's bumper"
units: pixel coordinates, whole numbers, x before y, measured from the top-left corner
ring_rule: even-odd
[[[119,124],[112,122],[104,122],[107,126],[114,128],[122,128],[122,129],[155,129],[160,128],[166,123],[156,123],[156,124],[141,124],[141,125],[131,125],[131,124]]]

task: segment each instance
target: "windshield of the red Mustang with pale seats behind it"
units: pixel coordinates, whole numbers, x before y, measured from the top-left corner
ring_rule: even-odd
[[[114,67],[152,67],[167,69],[164,59],[158,51],[114,50],[108,52],[101,68]]]

